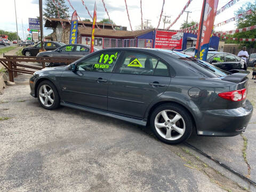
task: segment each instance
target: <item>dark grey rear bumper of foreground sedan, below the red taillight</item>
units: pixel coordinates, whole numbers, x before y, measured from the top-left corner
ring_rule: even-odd
[[[203,111],[197,126],[197,134],[204,136],[230,137],[245,131],[253,112],[252,104],[245,101],[244,107],[225,110]]]

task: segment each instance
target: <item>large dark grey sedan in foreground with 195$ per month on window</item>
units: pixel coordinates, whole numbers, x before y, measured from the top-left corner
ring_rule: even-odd
[[[249,72],[229,72],[179,52],[113,48],[36,71],[31,95],[45,109],[90,111],[148,126],[163,142],[245,131],[253,107]]]

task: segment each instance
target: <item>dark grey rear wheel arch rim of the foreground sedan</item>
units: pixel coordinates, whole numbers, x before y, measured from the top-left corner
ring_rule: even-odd
[[[149,124],[150,122],[150,116],[151,114],[153,113],[153,111],[158,107],[158,106],[161,106],[163,104],[171,104],[171,103],[175,103],[176,105],[179,105],[181,107],[183,107],[187,112],[188,114],[191,116],[191,119],[192,119],[192,122],[194,124],[194,127],[193,129],[195,129],[197,131],[197,123],[196,123],[196,120],[195,120],[195,116],[193,114],[193,112],[191,110],[189,110],[189,108],[184,105],[183,103],[181,102],[178,102],[178,101],[172,101],[172,100],[165,100],[165,101],[159,101],[159,102],[156,102],[154,103],[153,106],[150,107],[150,109],[148,110],[147,114],[146,114],[146,118],[147,118],[147,125]]]

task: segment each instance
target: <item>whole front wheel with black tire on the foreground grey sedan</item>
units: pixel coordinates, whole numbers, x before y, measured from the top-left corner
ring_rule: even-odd
[[[46,89],[46,92],[44,87]],[[37,93],[38,102],[43,108],[52,110],[60,107],[60,96],[56,87],[53,85],[52,82],[42,81],[41,83],[39,83],[36,93]],[[47,98],[47,102],[44,102],[46,98]]]

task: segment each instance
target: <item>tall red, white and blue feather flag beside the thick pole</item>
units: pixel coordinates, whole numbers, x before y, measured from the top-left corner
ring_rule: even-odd
[[[207,52],[209,50],[209,42],[212,34],[213,23],[217,12],[218,3],[219,0],[204,0],[203,2],[195,51],[196,57],[203,61],[206,61]]]

